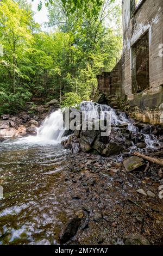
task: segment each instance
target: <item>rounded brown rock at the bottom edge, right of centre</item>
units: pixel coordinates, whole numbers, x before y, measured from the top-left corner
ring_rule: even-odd
[[[130,234],[126,237],[125,245],[150,245],[145,236],[140,234]]]

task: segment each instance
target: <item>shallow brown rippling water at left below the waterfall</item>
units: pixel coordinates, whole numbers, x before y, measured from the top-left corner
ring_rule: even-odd
[[[0,144],[0,244],[55,244],[62,206],[55,193],[69,151],[60,144]]]

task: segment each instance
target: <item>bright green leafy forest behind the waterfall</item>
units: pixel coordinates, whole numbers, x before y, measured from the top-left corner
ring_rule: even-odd
[[[47,4],[42,31],[27,1],[1,1],[0,114],[16,113],[33,98],[68,106],[93,97],[96,75],[121,57],[121,6],[112,0],[83,5]]]

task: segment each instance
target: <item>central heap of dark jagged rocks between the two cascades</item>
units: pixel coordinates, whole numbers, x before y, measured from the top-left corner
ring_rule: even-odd
[[[86,126],[89,126],[88,122]],[[130,132],[126,125],[111,127],[109,136],[103,137],[102,132],[104,131],[101,129],[95,130],[95,126],[92,130],[82,130],[81,125],[80,129],[77,127],[74,134],[62,142],[62,145],[66,149],[71,149],[74,154],[83,151],[106,157],[120,154],[131,146]]]

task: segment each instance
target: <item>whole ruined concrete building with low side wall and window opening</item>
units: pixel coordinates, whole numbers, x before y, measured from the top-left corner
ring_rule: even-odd
[[[122,59],[98,75],[106,96],[127,99],[133,117],[163,124],[163,0],[123,0]]]

